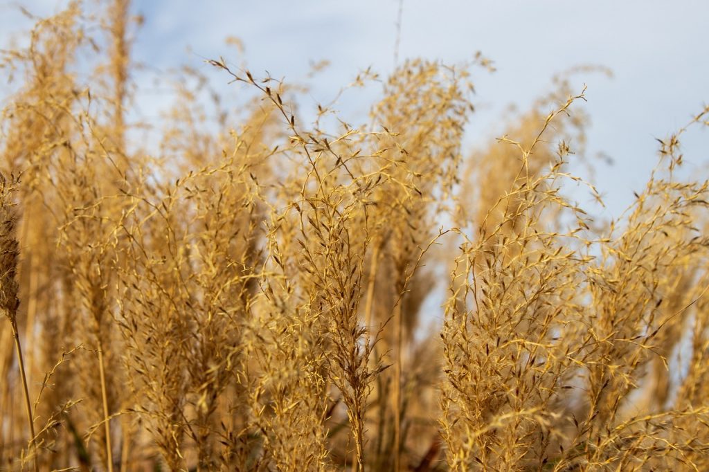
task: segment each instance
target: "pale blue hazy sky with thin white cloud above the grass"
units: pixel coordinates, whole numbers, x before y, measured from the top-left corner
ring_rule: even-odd
[[[48,15],[65,3],[19,4]],[[29,26],[17,5],[0,0],[2,45]],[[314,107],[330,101],[361,69],[372,66],[382,76],[392,71],[398,6],[398,0],[135,1],[133,11],[145,16],[145,24],[134,57],[157,69],[191,64],[206,70],[211,67],[204,58],[223,55],[233,64],[245,61],[255,75],[268,70],[288,82],[305,81],[311,62],[329,60],[330,67],[309,81]],[[480,50],[494,61],[494,74],[476,71],[479,112],[469,125],[471,146],[500,135],[508,106],[525,109],[550,90],[554,74],[579,64],[612,69],[613,79],[597,73],[573,79],[579,91],[588,85],[583,106],[593,122],[589,156],[603,152],[615,162],[597,163],[596,184],[608,203],[601,214],[608,217],[618,215],[647,181],[657,159],[654,138],[685,124],[709,100],[708,18],[709,2],[699,0],[403,0],[398,55],[400,61],[455,63]],[[242,40],[244,57],[225,45],[229,35]],[[154,74],[134,79],[149,89]],[[359,123],[369,101],[355,97],[343,101],[340,111]],[[150,117],[160,97],[148,96],[140,106]],[[685,141],[691,172],[709,162],[708,137],[695,131]],[[579,199],[588,203],[584,195]]]

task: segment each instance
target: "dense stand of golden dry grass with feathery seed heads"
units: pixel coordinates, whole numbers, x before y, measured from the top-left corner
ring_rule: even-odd
[[[0,470],[709,468],[709,183],[676,178],[709,108],[603,223],[564,77],[469,156],[481,56],[405,62],[358,127],[213,60],[249,98],[182,69],[145,132],[128,11],[4,52]]]

